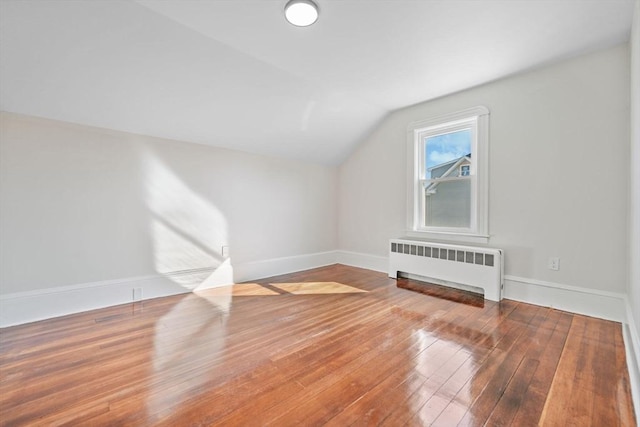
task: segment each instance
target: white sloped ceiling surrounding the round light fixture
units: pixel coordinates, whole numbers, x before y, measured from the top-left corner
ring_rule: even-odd
[[[389,112],[629,39],[633,0],[0,0],[0,109],[338,164]]]

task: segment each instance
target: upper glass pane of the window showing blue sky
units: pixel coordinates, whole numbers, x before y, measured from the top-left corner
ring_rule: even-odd
[[[426,179],[460,175],[471,156],[471,129],[425,138]],[[467,168],[468,170],[468,168]]]

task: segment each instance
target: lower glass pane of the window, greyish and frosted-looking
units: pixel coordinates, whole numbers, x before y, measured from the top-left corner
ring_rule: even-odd
[[[424,190],[427,227],[471,226],[471,180],[431,182]]]

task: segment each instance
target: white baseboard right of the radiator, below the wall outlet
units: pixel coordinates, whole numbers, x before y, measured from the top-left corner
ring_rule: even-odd
[[[505,275],[503,298],[624,322],[624,294]]]

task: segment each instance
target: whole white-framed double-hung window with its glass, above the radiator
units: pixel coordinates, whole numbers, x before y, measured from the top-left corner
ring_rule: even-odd
[[[488,119],[476,107],[409,126],[410,235],[487,241]]]

